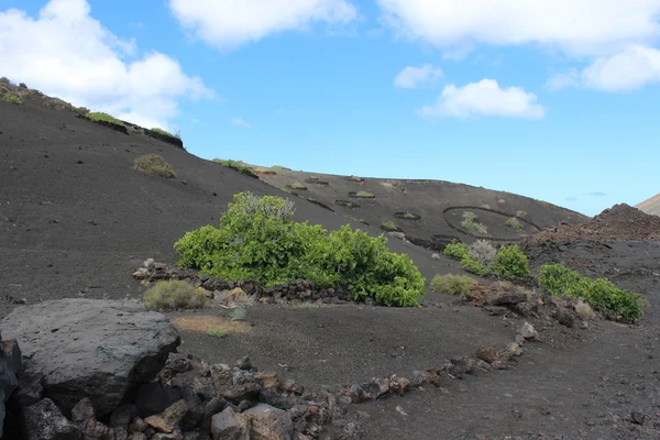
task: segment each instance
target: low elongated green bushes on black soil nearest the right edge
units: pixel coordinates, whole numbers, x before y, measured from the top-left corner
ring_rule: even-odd
[[[539,284],[553,296],[584,298],[628,322],[638,322],[644,315],[641,295],[623,290],[607,279],[591,280],[561,264],[541,266]]]

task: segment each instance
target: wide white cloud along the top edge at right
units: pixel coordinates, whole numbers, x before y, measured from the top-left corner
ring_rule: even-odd
[[[604,55],[660,35],[660,0],[376,0],[400,34],[443,50],[542,44]]]

